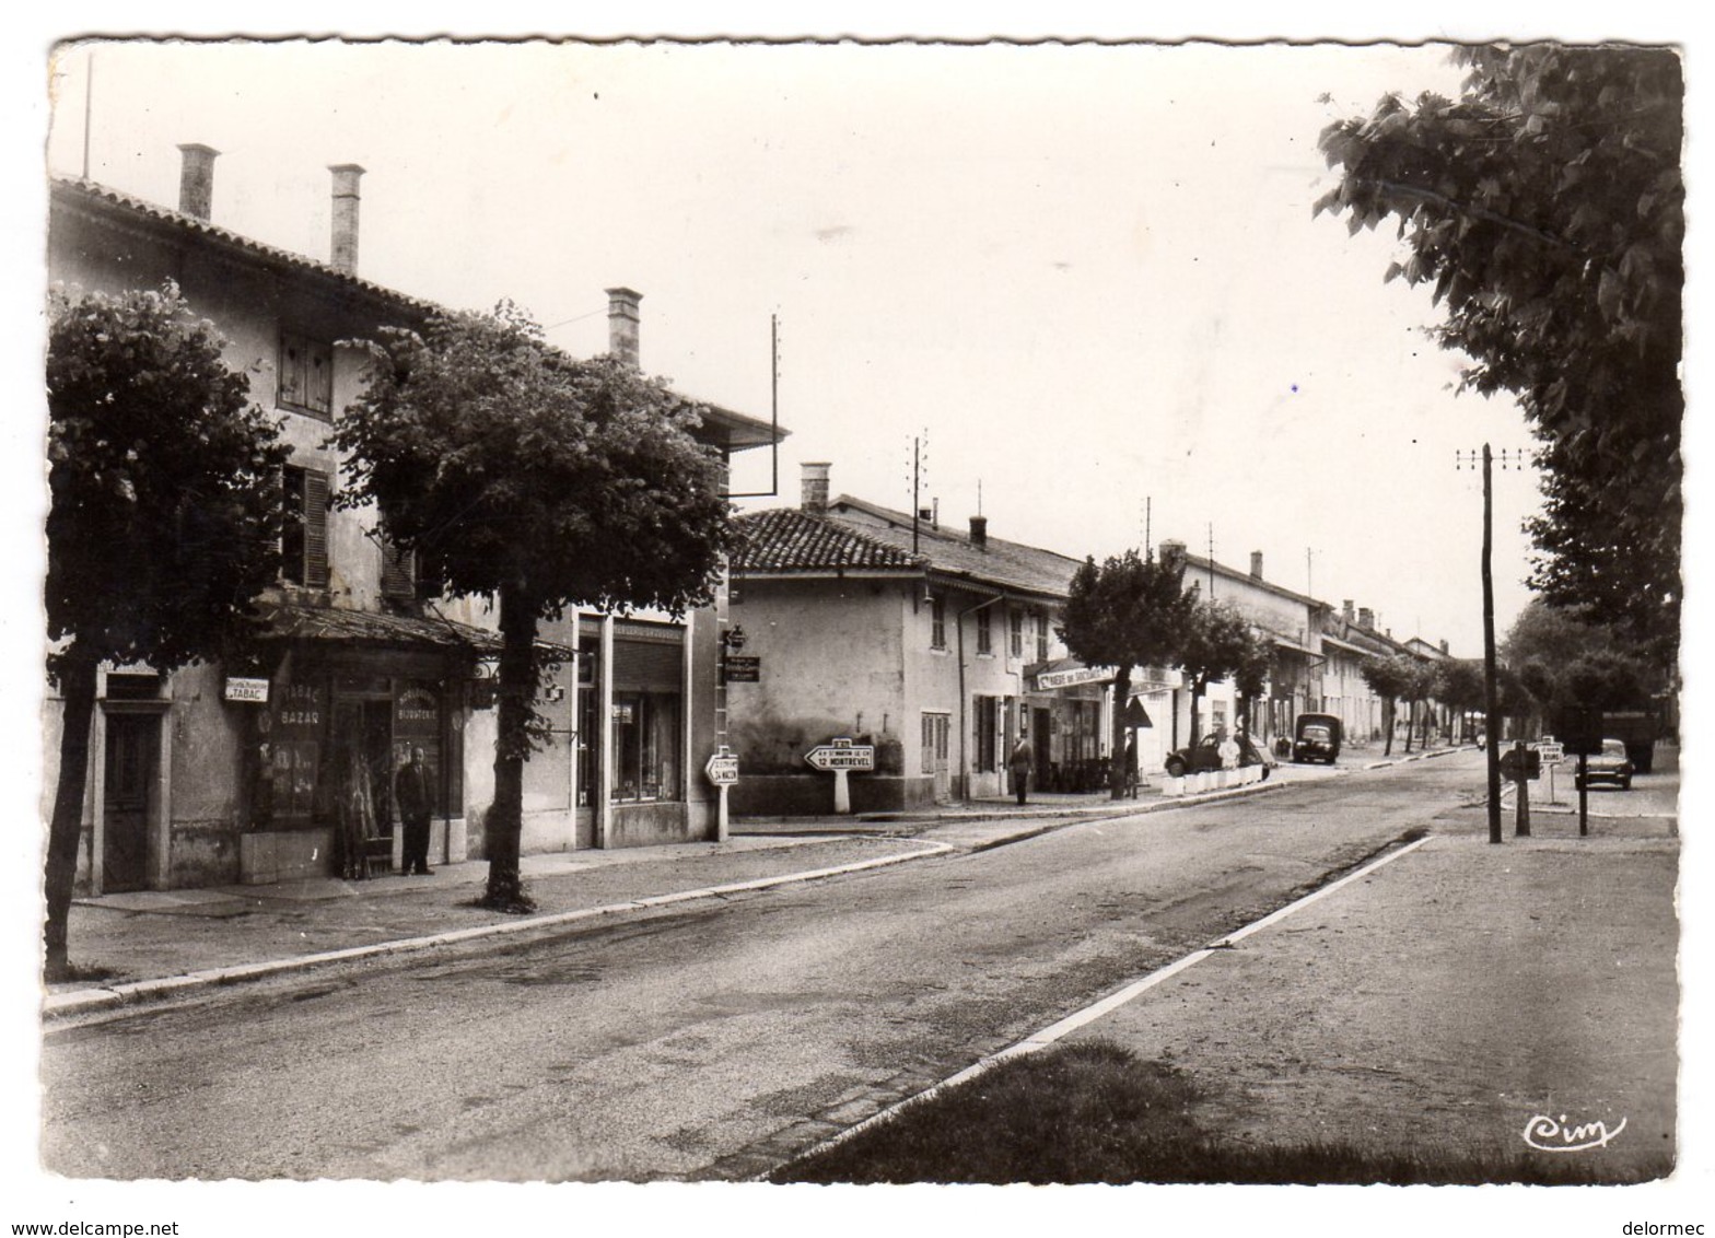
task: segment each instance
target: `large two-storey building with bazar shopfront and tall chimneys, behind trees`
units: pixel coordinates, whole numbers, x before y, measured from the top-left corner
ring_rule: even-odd
[[[484,854],[492,797],[496,619],[444,598],[391,550],[372,509],[334,509],[331,424],[362,382],[338,341],[415,326],[436,305],[357,274],[362,168],[333,168],[329,261],[250,240],[211,221],[216,153],[184,146],[178,209],[113,189],[51,183],[48,274],[84,290],[173,279],[250,372],[250,396],[285,422],[281,484],[302,513],[281,580],[262,598],[269,638],[257,667],[196,665],[172,676],[106,667],[91,736],[79,886],[101,893],[324,874],[336,796],[362,784],[381,833],[391,775],[425,749],[436,794],[430,856]],[[611,290],[614,348],[635,360],[636,293]],[[701,437],[724,456],[773,439],[724,410]],[[717,609],[667,617],[569,614],[544,640],[568,657],[539,703],[551,741],[525,768],[525,849],[710,837]],[[58,761],[48,703],[45,787]]]

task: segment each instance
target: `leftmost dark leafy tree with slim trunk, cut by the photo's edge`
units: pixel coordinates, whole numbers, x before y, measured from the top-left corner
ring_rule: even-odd
[[[238,652],[280,571],[280,425],[178,293],[50,295],[48,682],[63,700],[48,825],[46,976],[67,916],[103,662],[177,670]]]

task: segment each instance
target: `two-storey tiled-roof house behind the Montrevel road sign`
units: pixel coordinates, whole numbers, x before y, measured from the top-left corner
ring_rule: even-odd
[[[1058,636],[1079,561],[991,537],[983,516],[950,528],[933,511],[830,499],[828,485],[828,465],[804,465],[799,508],[741,518],[734,811],[830,811],[830,778],[804,777],[803,754],[840,736],[882,756],[852,780],[858,811],[1007,794],[1020,737],[1038,787],[1101,784],[1113,674],[1074,662]],[[1176,672],[1140,684],[1144,708],[1170,684]]]

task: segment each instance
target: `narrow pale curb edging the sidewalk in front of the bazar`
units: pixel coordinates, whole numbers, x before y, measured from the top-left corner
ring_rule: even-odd
[[[345,950],[328,950],[314,955],[302,955],[298,959],[271,959],[259,964],[235,964],[232,967],[211,967],[199,972],[189,972],[185,976],[165,976],[159,979],[132,981],[129,984],[113,984],[106,988],[94,989],[74,989],[70,993],[55,993],[43,1000],[41,1017],[65,1019],[70,1015],[89,1013],[93,1010],[110,1010],[117,1007],[132,1007],[144,1001],[153,1001],[158,998],[177,996],[182,993],[196,993],[201,989],[223,988],[228,984],[242,984],[245,981],[259,981],[269,976],[281,976],[286,972],[309,971],[314,967],[326,967],[331,964],[353,962],[358,959],[381,959],[386,955],[410,953],[415,950],[432,950],[444,945],[458,945],[463,941],[477,941],[482,938],[497,938],[509,933],[527,933],[530,929],[556,928],[559,924],[576,924],[578,921],[600,919],[604,916],[619,916],[635,910],[650,910],[655,907],[671,907],[672,904],[693,902],[698,898],[720,898],[731,893],[744,893],[748,890],[768,890],[779,885],[792,885],[797,881],[816,881],[827,876],[840,876],[844,873],[861,873],[871,868],[885,868],[890,864],[904,864],[914,859],[928,859],[930,856],[945,856],[957,850],[945,842],[933,842],[928,838],[914,838],[912,842],[921,845],[921,850],[902,854],[902,856],[882,856],[878,859],[863,859],[851,864],[835,864],[833,868],[806,869],[803,873],[784,873],[780,876],[763,876],[751,881],[732,881],[729,885],[712,885],[701,886],[698,890],[679,890],[674,893],[650,895],[647,898],[631,898],[628,902],[607,904],[604,907],[581,907],[578,910],[554,912],[551,916],[528,916],[516,921],[502,921],[499,924],[478,924],[466,929],[453,929],[448,933],[434,933],[422,938],[400,938],[396,941],[377,941],[367,947],[348,947]]]

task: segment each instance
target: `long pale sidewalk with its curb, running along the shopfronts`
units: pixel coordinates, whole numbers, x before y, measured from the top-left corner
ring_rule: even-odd
[[[72,962],[103,974],[50,986],[43,1010],[48,1017],[84,1013],[326,962],[707,898],[734,886],[981,850],[1077,821],[1259,796],[1298,777],[1329,773],[1350,770],[1281,766],[1262,784],[1183,797],[1146,787],[1137,799],[1122,801],[1104,794],[1034,796],[1024,806],[993,799],[844,820],[741,818],[724,844],[527,856],[521,869],[539,904],[528,917],[473,905],[487,880],[487,861],[442,864],[432,876],[314,878],[79,898],[70,912]]]

